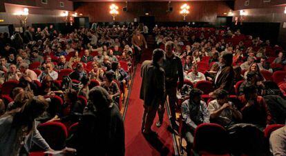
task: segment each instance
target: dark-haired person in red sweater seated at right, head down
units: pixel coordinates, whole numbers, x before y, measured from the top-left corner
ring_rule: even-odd
[[[254,124],[260,129],[264,129],[271,122],[271,115],[263,97],[258,96],[257,88],[254,85],[245,86],[244,95],[238,97],[242,103],[240,109],[242,122]]]

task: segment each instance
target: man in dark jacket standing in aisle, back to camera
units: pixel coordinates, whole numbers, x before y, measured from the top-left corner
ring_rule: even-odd
[[[158,107],[164,102],[165,77],[164,69],[160,67],[163,63],[164,50],[155,49],[152,61],[144,61],[141,67],[142,84],[140,88],[140,99],[144,100],[144,115],[142,119],[142,133],[149,135],[153,133],[153,124]]]

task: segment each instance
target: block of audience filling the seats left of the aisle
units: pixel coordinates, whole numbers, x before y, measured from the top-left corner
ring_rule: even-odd
[[[140,60],[143,48],[144,36],[133,24],[65,35],[53,25],[36,31],[28,26],[23,35],[11,37],[0,33],[0,155],[30,152],[28,138],[52,151],[37,126],[55,121],[79,122],[78,133],[66,144],[72,148],[64,153],[124,155],[122,93],[128,90],[133,55]],[[86,142],[90,145],[83,146]]]

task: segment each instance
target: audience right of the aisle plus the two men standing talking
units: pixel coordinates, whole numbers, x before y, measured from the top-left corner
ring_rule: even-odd
[[[157,111],[156,126],[161,126],[165,104],[170,108],[173,129],[178,129],[176,120],[182,119],[181,135],[187,141],[189,155],[195,130],[203,123],[216,123],[227,130],[237,128],[235,133],[239,133],[238,127],[253,126],[262,133],[270,124],[285,124],[285,81],[276,84],[261,72],[284,70],[282,48],[271,45],[269,40],[242,35],[240,30],[229,28],[156,26],[153,32],[158,49],[153,51],[152,61],[142,64],[140,98],[144,100],[144,135],[155,133],[151,125]],[[278,57],[271,59],[275,55]],[[202,83],[208,86],[196,88]],[[165,102],[167,95],[168,103]],[[181,117],[176,117],[176,112],[180,112]],[[279,137],[270,139],[274,155],[286,154],[285,126],[280,129]],[[254,148],[247,149],[249,153],[254,152],[251,151]],[[264,146],[256,148],[254,153],[267,155],[265,151],[268,150]]]

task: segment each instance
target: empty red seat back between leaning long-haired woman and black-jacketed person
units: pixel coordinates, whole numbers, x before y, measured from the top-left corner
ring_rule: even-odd
[[[62,150],[65,146],[68,130],[60,122],[46,122],[37,127],[41,136],[54,150]]]

